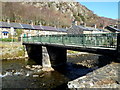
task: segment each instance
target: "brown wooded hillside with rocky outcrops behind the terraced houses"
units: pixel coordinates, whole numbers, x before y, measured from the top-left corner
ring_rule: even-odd
[[[2,3],[2,21],[42,24],[55,27],[70,27],[72,21],[78,25],[104,27],[117,21],[99,17],[78,2],[6,2]]]

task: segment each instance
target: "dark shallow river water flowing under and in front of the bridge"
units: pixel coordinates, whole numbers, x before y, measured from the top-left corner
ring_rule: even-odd
[[[96,55],[68,58],[67,64],[60,69],[44,72],[33,60],[4,60],[2,62],[2,88],[39,88],[67,89],[67,82],[87,74],[93,69],[76,67],[73,63],[83,59],[96,59]],[[79,59],[79,60],[78,60]]]

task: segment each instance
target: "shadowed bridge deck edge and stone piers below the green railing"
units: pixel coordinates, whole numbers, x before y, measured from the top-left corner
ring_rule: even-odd
[[[75,46],[63,46],[55,44],[37,44],[37,43],[23,43],[26,46],[26,51],[30,59],[33,59],[43,67],[57,67],[63,65],[67,61],[67,50],[89,52],[101,55],[107,55],[110,57],[118,58],[119,61],[119,48],[113,49],[102,49],[102,48],[86,48],[86,47],[75,47]],[[46,54],[43,54],[45,49]],[[119,53],[118,53],[119,52]],[[116,60],[115,59],[115,60]]]

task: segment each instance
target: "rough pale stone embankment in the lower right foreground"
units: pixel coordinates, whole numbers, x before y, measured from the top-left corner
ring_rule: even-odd
[[[68,88],[120,88],[120,63],[111,63],[76,80],[68,82]]]

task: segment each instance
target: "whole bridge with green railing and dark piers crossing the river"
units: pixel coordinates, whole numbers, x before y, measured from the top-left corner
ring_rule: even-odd
[[[46,47],[51,66],[66,63],[67,50],[108,55],[120,60],[120,33],[65,34],[23,37],[29,58],[42,64],[42,46]]]

